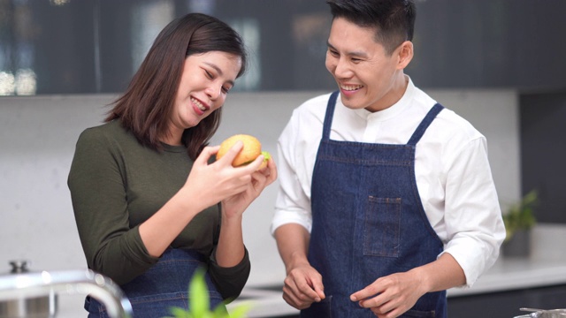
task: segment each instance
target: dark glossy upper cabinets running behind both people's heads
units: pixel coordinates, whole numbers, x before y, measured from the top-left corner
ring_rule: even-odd
[[[158,32],[199,11],[244,38],[235,90],[331,90],[324,0],[0,0],[0,95],[119,93]],[[419,87],[566,86],[566,1],[417,0]]]

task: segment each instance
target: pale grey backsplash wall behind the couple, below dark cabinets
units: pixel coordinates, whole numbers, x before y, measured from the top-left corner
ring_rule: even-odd
[[[521,182],[516,92],[435,90],[429,94],[486,135],[501,202],[515,201]],[[252,133],[275,153],[277,137],[291,111],[313,95],[317,92],[231,94],[214,141],[233,133]],[[85,268],[66,177],[79,133],[101,123],[108,110],[103,105],[114,97],[0,98],[0,273],[8,272],[8,262],[15,259],[31,261],[33,270]],[[252,261],[250,286],[280,284],[285,274],[269,233],[276,190],[277,184],[266,189],[244,218],[244,239]],[[80,311],[81,298],[61,298],[62,309]]]

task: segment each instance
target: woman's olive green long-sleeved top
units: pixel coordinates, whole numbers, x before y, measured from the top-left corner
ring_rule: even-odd
[[[192,166],[187,148],[144,147],[119,120],[81,133],[68,186],[88,268],[126,284],[154,265],[159,259],[143,245],[139,225],[185,185]],[[233,299],[248,280],[249,255],[246,251],[233,268],[221,268],[214,261],[220,217],[219,204],[203,210],[171,247],[207,256],[218,292]]]

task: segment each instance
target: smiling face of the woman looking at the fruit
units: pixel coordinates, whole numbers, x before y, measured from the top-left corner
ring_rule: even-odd
[[[185,129],[194,127],[224,105],[241,69],[241,57],[222,51],[194,54],[185,59],[170,133],[175,144]]]

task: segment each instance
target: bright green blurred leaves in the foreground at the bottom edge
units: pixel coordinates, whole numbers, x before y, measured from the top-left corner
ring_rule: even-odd
[[[210,296],[206,281],[204,280],[205,269],[196,269],[190,284],[188,285],[189,310],[172,307],[171,313],[174,318],[244,318],[249,311],[249,304],[243,303],[233,308],[228,314],[225,304],[218,305],[210,311]],[[168,317],[171,318],[171,317]]]

